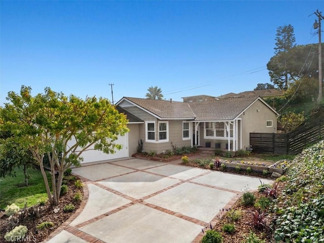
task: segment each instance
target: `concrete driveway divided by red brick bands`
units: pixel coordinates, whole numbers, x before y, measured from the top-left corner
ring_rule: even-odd
[[[260,185],[254,177],[135,158],[72,171],[84,181],[85,200],[50,243],[199,242],[201,229]]]

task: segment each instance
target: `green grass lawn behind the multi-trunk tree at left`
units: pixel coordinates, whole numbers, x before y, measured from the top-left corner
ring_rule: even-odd
[[[7,205],[15,203],[20,208],[32,206],[39,201],[47,200],[45,183],[40,170],[28,169],[28,187],[25,187],[23,170],[16,168],[17,177],[0,178],[0,209],[6,209]],[[48,178],[50,175],[48,174]],[[51,185],[50,185],[51,187]]]

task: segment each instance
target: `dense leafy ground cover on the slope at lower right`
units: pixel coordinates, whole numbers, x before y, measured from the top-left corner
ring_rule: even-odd
[[[286,242],[320,242],[324,239],[324,141],[294,160],[286,187],[275,199],[274,238]],[[288,240],[288,241],[287,241]]]

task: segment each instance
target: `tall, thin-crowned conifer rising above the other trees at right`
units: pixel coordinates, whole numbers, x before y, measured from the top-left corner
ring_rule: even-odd
[[[296,46],[294,27],[292,25],[279,26],[277,28],[275,38],[275,54],[281,56],[281,62],[276,63],[270,59],[270,64],[267,64],[271,81],[278,86],[279,89],[287,89],[290,81],[294,80],[294,74],[288,70],[287,59],[288,52]],[[271,65],[275,64],[275,66]],[[275,67],[275,68],[273,68]]]

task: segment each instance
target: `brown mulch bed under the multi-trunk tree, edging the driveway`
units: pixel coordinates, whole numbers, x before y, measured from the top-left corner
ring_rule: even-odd
[[[76,178],[77,180],[78,178]],[[70,218],[75,211],[79,208],[80,202],[75,202],[73,200],[74,195],[80,192],[83,195],[83,188],[76,188],[74,186],[74,181],[68,182],[68,191],[65,195],[61,196],[59,199],[58,206],[52,206],[47,201],[47,203],[42,206],[40,218],[37,218],[35,214],[32,214],[32,207],[28,209],[28,216],[18,225],[27,226],[28,232],[23,239],[19,242],[41,242],[46,239],[55,229],[57,229],[62,223],[64,223],[68,218]],[[75,209],[72,212],[64,212],[63,207],[72,203]],[[59,212],[55,213],[54,209],[59,208]],[[0,212],[0,242],[8,242],[5,240],[4,236],[7,232],[11,231],[14,226],[9,223],[9,217],[5,215],[5,212]],[[42,222],[53,222],[54,226],[50,228],[45,228],[42,230],[37,230],[36,226]]]

